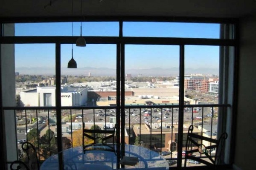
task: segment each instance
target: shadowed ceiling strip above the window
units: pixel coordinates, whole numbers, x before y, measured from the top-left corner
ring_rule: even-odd
[[[0,17],[79,16],[80,0],[0,0]],[[84,16],[245,17],[256,0],[82,0]]]

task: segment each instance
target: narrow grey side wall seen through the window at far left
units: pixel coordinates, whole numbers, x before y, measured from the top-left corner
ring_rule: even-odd
[[[14,36],[14,24],[4,24],[3,36]],[[15,106],[15,45],[1,45],[3,106]],[[17,159],[17,141],[14,111],[4,111],[7,161]]]

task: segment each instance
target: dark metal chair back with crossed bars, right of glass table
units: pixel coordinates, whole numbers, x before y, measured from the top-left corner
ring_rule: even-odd
[[[216,140],[216,139],[195,134],[193,133],[193,130],[194,130],[194,126],[190,125],[188,134],[187,134],[187,139],[186,139],[186,153],[185,153],[184,166],[186,167],[187,159],[192,159],[206,165],[220,164],[221,156],[223,153],[222,150],[224,149],[224,141],[225,139],[227,139],[227,133],[222,133],[220,138]],[[210,142],[210,145],[205,146],[203,144],[203,141]],[[212,149],[215,149],[216,151],[214,159],[212,159],[212,154],[210,153]],[[209,161],[192,155],[192,153],[198,153],[198,152],[200,154],[204,154],[209,159]]]

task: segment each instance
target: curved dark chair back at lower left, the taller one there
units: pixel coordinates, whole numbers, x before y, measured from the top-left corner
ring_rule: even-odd
[[[24,142],[21,148],[26,153],[29,170],[39,170],[39,161],[34,145],[30,142]]]

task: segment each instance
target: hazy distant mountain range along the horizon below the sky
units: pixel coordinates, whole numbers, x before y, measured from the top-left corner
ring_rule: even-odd
[[[43,67],[18,67],[15,68],[15,72],[20,74],[40,74],[40,75],[54,75],[55,68],[43,68]],[[116,69],[113,68],[61,68],[62,75],[88,75],[91,73],[92,76],[115,76]],[[176,76],[179,74],[179,68],[146,68],[146,69],[127,69],[125,74],[131,74],[137,76]],[[218,68],[186,68],[185,74],[218,74]]]

